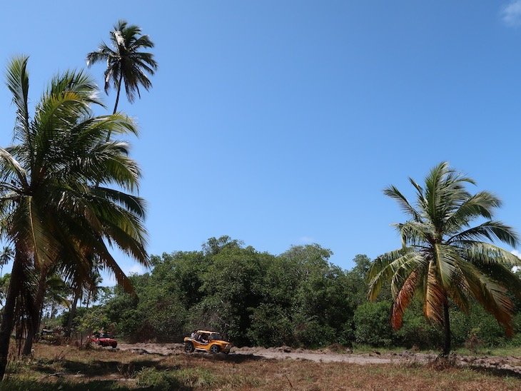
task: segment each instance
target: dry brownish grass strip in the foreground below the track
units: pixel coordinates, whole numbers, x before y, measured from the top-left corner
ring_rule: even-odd
[[[435,365],[353,365],[253,355],[138,355],[36,345],[1,390],[519,390],[517,377]],[[153,387],[155,386],[155,387]]]

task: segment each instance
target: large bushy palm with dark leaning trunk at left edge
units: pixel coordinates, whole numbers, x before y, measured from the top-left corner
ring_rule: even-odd
[[[131,194],[138,189],[140,170],[128,157],[127,143],[106,141],[109,133],[136,133],[135,126],[121,114],[93,116],[91,106],[101,103],[95,84],[81,71],[54,77],[31,118],[26,66],[27,58],[20,57],[7,69],[18,143],[0,148],[1,234],[14,245],[0,325],[0,379],[15,308],[30,307],[26,314],[33,332],[41,308],[44,295],[28,293],[28,287],[39,286],[27,280],[31,270],[41,280],[54,269],[66,280],[86,280],[89,258],[95,257],[131,290],[107,244],[148,265],[144,201]]]

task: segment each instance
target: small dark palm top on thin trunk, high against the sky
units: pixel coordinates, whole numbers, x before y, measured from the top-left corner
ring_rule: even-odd
[[[153,75],[158,64],[153,59],[153,54],[141,51],[151,49],[154,44],[146,35],[141,35],[141,28],[136,25],[128,25],[126,21],[120,20],[114,25],[111,34],[111,47],[101,42],[97,51],[87,54],[87,66],[97,62],[106,62],[105,92],[116,88],[116,103],[113,113],[118,109],[119,93],[121,84],[125,83],[125,92],[130,103],[136,98],[141,98],[139,86],[146,91],[151,88],[152,83],[146,73]]]

